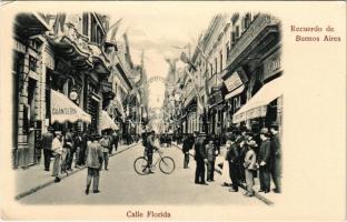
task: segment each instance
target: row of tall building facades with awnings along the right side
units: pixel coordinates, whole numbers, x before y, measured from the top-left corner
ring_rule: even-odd
[[[269,14],[211,20],[181,78],[184,133],[220,134],[235,127],[258,132],[274,121],[281,124],[279,33],[280,22]]]

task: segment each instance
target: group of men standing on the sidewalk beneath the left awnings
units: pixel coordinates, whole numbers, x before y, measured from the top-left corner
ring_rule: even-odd
[[[92,158],[90,149],[96,147],[98,143],[98,149],[100,148],[100,157],[98,157],[98,164]],[[75,160],[75,168],[88,167],[96,168],[99,170],[108,170],[108,158],[112,153],[112,150],[118,149],[119,137],[117,132],[105,131],[103,137],[98,134],[90,134],[87,132],[72,133],[68,129],[65,133],[61,131],[54,131],[50,127],[48,131],[42,134],[41,147],[44,157],[44,171],[50,171],[51,158],[54,159],[52,176],[54,176],[54,182],[60,182],[59,174],[72,171],[72,162]],[[95,145],[91,145],[95,144]],[[90,147],[91,145],[91,147]],[[93,153],[95,154],[95,153]],[[88,175],[96,175],[93,170],[88,170]],[[98,180],[98,179],[97,179]]]

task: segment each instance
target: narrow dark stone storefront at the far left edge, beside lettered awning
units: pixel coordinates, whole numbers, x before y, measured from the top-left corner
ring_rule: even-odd
[[[13,167],[36,163],[42,130],[42,51],[48,24],[37,13],[19,13],[13,27]]]

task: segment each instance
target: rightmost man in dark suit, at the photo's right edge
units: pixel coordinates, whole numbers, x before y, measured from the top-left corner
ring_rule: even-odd
[[[275,193],[281,192],[281,148],[280,148],[280,140],[278,135],[278,124],[275,122],[270,127],[271,132],[271,176],[275,183]]]

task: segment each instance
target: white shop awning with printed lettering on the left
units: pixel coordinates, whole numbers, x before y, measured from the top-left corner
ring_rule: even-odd
[[[91,122],[91,118],[66,95],[51,90],[51,122]]]

